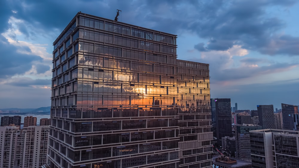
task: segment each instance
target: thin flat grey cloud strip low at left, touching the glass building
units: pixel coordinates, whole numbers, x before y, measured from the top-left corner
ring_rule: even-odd
[[[13,78],[6,84],[18,87],[30,87],[33,85],[50,85],[51,79]]]

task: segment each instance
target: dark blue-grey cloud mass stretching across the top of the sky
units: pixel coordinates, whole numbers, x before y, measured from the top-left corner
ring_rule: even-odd
[[[71,2],[71,3],[70,3]],[[234,44],[263,54],[298,55],[298,39],[292,36],[273,36],[286,26],[284,21],[266,16],[266,7],[289,7],[295,0],[243,0],[243,1],[1,1],[6,11],[2,18],[7,22],[10,16],[25,20],[44,30],[63,30],[78,11],[114,19],[116,9],[123,12],[119,21],[136,24],[160,31],[177,34],[193,31],[200,38],[213,39],[205,47],[201,43],[194,47],[199,51],[227,50]],[[99,10],[100,9],[100,10]],[[16,10],[13,14],[11,10]],[[55,12],[54,12],[55,11]],[[123,20],[121,19],[123,18]],[[7,27],[6,23],[0,30]],[[34,32],[20,25],[22,33],[34,36]],[[276,38],[275,38],[276,37]],[[283,41],[283,38],[289,40]],[[280,40],[277,48],[271,48],[273,40]],[[294,42],[296,45],[294,45]]]

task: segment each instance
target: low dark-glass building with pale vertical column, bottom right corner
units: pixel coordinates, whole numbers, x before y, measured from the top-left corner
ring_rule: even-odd
[[[299,131],[250,131],[252,167],[299,167]]]

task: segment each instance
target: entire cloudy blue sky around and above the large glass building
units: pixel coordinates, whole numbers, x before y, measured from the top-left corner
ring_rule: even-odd
[[[178,35],[210,64],[211,98],[299,105],[297,0],[1,0],[0,108],[50,106],[53,42],[77,12]]]

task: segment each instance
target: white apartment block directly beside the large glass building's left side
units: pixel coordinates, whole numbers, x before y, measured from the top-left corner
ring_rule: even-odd
[[[24,127],[21,133],[21,168],[39,168],[47,163],[48,134],[49,126]]]

